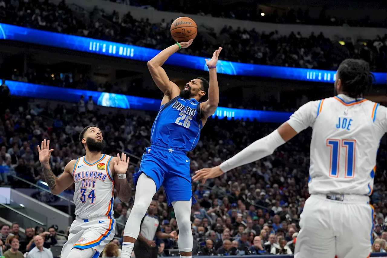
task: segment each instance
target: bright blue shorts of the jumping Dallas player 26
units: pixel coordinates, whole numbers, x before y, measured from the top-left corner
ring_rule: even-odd
[[[142,155],[139,172],[133,174],[136,186],[139,176],[145,173],[156,184],[156,191],[164,187],[167,203],[171,206],[173,201],[189,201],[196,203],[192,195],[190,160],[185,152],[151,145],[145,148]]]

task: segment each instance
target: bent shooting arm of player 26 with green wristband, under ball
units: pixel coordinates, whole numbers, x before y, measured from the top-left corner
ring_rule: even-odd
[[[178,44],[181,48],[187,48],[192,44],[192,41],[194,40],[190,40],[188,42],[181,42]],[[154,83],[156,83],[159,89],[163,91],[164,95],[175,94],[177,96],[180,93],[180,89],[178,88],[178,86],[170,81],[164,69],[161,68],[164,62],[180,49],[178,44],[174,44],[164,49],[163,51],[158,53],[154,58],[148,61],[148,69],[149,72],[151,72],[153,81]]]

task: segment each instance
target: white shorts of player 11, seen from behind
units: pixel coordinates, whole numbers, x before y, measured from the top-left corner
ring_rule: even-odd
[[[373,207],[368,196],[312,194],[300,227],[295,258],[368,258]]]

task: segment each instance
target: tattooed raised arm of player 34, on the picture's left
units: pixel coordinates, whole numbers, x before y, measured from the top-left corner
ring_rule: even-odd
[[[74,165],[76,160],[71,160],[67,163],[65,170],[63,173],[57,177],[51,170],[50,167],[50,156],[53,149],[50,150],[50,140],[43,140],[41,147],[38,145],[39,152],[39,161],[42,165],[43,175],[46,179],[46,183],[53,194],[60,194],[65,191],[71,184],[74,182],[72,177],[72,170],[74,169]]]

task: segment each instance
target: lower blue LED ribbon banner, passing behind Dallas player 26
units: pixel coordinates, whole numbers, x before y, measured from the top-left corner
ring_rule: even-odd
[[[99,106],[155,112],[158,112],[161,104],[161,100],[115,93],[60,88],[18,81],[5,81],[5,84],[8,86],[11,95],[28,98],[46,98],[76,103],[79,101],[80,96],[84,96],[86,100],[91,96],[94,103]],[[291,114],[289,112],[218,107],[212,117],[217,116],[219,119],[224,117],[228,119],[257,119],[260,122],[282,123],[288,120]]]

